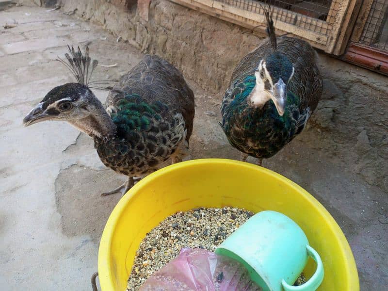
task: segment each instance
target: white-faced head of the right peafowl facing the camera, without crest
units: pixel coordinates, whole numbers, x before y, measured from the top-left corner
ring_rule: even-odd
[[[287,56],[282,53],[274,52],[262,59],[255,71],[253,104],[262,106],[272,100],[279,115],[283,115],[287,101],[287,85],[294,75],[294,70]]]

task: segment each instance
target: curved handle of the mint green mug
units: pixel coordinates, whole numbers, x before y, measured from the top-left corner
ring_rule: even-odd
[[[306,283],[299,286],[291,286],[287,284],[284,279],[282,280],[282,286],[285,291],[315,291],[318,289],[323,281],[323,263],[319,254],[308,244],[306,245],[307,254],[317,262],[317,270],[314,275]]]

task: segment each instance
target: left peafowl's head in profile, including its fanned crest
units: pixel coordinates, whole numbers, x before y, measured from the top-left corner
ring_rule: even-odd
[[[65,54],[67,63],[61,61],[74,75],[77,83],[66,83],[49,91],[27,116],[23,119],[24,126],[46,121],[67,121],[82,132],[101,137],[114,131],[114,125],[101,102],[92,92],[89,82],[97,61],[91,62],[89,49],[83,55],[80,48],[76,51],[69,48]]]

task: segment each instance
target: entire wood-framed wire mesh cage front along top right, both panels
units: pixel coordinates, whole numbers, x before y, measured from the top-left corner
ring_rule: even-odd
[[[263,32],[264,7],[275,29],[315,49],[388,75],[388,0],[170,0]]]

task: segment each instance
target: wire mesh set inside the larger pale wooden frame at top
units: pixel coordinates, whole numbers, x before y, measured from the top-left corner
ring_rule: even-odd
[[[340,0],[218,0],[263,15],[265,3],[273,7],[274,19],[307,31],[328,35],[333,29]],[[320,21],[318,21],[320,20]]]

